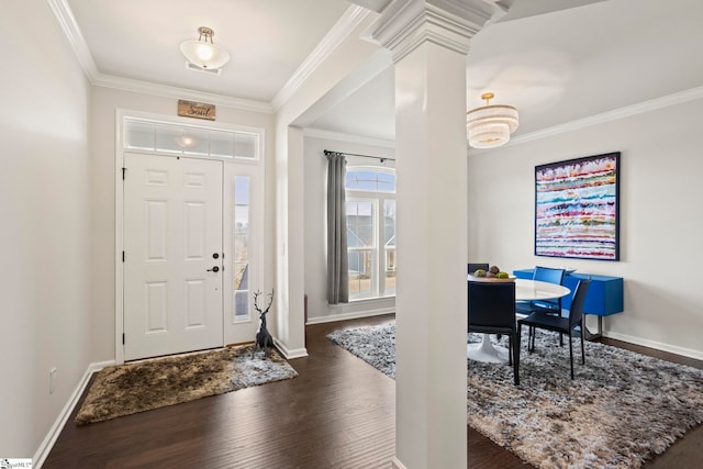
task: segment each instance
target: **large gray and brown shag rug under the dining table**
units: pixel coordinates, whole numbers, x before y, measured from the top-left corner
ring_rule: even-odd
[[[387,376],[395,376],[394,324],[327,336]],[[469,342],[481,336],[469,334]],[[639,468],[703,422],[703,370],[603,344],[585,344],[585,366],[538,332],[537,350],[512,367],[467,360],[467,423],[538,468]]]

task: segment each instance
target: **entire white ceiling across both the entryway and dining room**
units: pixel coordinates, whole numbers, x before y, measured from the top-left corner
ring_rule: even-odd
[[[54,0],[72,13],[97,74],[271,108],[354,5],[344,0]],[[367,5],[386,1],[358,1]],[[515,135],[701,87],[700,0],[514,0],[471,41],[467,109],[518,108]],[[220,76],[186,69],[199,26],[232,59]],[[695,48],[694,48],[695,47]],[[693,51],[693,52],[692,52]],[[85,60],[83,60],[85,62]],[[378,74],[312,127],[393,141],[393,71]]]

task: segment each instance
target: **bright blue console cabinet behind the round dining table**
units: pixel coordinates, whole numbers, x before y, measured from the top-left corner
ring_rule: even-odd
[[[513,270],[513,275],[518,279],[532,279],[535,269]],[[591,286],[585,294],[585,303],[583,312],[600,317],[610,314],[622,313],[623,304],[623,278],[592,276],[589,273],[567,273],[563,276],[563,286],[573,292],[579,280],[591,278]],[[571,305],[571,297],[565,297],[561,300],[561,308],[569,309]]]

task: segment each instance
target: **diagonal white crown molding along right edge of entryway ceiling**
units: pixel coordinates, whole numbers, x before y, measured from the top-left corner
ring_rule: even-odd
[[[368,16],[370,10],[358,5],[350,5],[344,15],[335,23],[308,58],[298,67],[295,72],[283,85],[271,100],[275,111],[279,110],[305,80],[320,67],[327,57],[342,44],[344,40]]]

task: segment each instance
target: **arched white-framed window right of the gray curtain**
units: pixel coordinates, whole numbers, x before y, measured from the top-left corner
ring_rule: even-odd
[[[349,300],[395,295],[395,171],[348,167]]]

